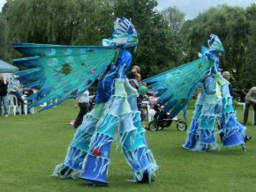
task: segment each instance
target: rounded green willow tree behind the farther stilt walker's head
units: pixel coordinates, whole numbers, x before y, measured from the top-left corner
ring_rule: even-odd
[[[225,48],[222,56],[222,69],[236,71],[233,73],[235,83],[241,80],[244,72],[241,65],[245,63],[245,49],[250,23],[241,7],[222,5],[211,8],[197,18],[184,23],[183,31],[190,60],[195,59],[200,45],[206,45],[211,33],[219,36]]]

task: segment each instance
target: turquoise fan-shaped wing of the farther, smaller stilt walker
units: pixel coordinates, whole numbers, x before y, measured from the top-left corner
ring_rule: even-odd
[[[147,78],[144,82],[151,92],[156,92],[158,102],[164,106],[162,114],[169,112],[170,118],[173,118],[182,109],[186,109],[192,94],[209,68],[207,58],[202,57],[153,78]]]

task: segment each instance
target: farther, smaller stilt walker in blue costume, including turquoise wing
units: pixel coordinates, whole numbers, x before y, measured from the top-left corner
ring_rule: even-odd
[[[245,150],[246,128],[237,122],[228,90],[229,82],[219,72],[219,56],[224,51],[222,42],[212,34],[208,46],[202,47],[200,59],[148,78],[145,82],[151,84],[148,88],[159,97],[158,101],[163,105],[162,114],[170,111],[169,118],[176,116],[182,109],[186,118],[187,104],[200,87],[191,128],[183,145],[185,149],[219,149],[216,136],[222,133],[224,146],[241,144]],[[216,122],[222,128],[220,131],[215,129]]]

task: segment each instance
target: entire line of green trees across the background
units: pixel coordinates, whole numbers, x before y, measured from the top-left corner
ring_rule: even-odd
[[[225,48],[222,69],[234,84],[256,85],[256,5],[222,5],[184,20],[177,7],[160,12],[156,0],[7,0],[0,13],[0,59],[18,57],[10,42],[101,45],[111,38],[113,22],[132,18],[139,32],[133,64],[148,78],[197,58],[211,33]]]

